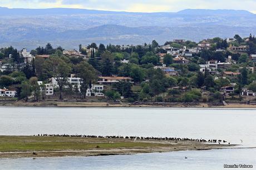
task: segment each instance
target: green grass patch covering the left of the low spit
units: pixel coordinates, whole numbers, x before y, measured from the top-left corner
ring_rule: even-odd
[[[125,139],[0,136],[0,152],[63,151],[115,148],[165,147],[170,144],[132,142]]]

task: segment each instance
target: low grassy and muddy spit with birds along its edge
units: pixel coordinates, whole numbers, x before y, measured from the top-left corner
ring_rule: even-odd
[[[110,156],[137,153],[224,149],[236,144],[125,138],[0,136],[0,159]]]

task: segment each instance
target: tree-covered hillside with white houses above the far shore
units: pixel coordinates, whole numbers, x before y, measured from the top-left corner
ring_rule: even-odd
[[[0,49],[0,101],[256,103],[256,38]],[[223,102],[225,101],[225,102]]]

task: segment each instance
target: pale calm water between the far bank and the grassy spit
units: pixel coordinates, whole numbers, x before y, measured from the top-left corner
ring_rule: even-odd
[[[227,139],[256,146],[256,109],[0,107],[0,135],[38,133]]]

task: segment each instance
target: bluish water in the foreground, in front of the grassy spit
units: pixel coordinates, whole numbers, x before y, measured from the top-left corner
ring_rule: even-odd
[[[184,157],[188,157],[185,159]],[[125,156],[0,159],[0,169],[224,169],[224,164],[252,164],[256,149],[180,151]],[[251,169],[251,168],[249,168]]]

